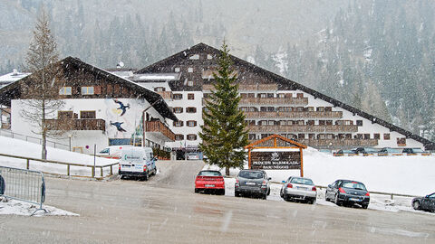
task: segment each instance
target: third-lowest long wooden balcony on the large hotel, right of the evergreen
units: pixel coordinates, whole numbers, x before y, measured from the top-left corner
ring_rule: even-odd
[[[245,112],[247,118],[342,118],[342,111],[333,112]]]

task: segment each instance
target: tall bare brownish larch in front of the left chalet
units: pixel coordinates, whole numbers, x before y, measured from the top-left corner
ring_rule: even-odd
[[[56,64],[59,55],[48,20],[42,9],[25,59],[27,71],[32,72],[32,75],[22,87],[24,109],[21,114],[40,130],[37,133],[42,135],[42,159],[47,158],[47,135],[58,133],[50,130],[46,118],[53,117],[64,104],[59,99],[60,82],[56,81],[61,72]]]

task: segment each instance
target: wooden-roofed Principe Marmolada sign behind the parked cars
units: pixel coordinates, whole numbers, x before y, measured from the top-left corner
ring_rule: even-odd
[[[283,136],[272,135],[245,147],[248,150],[249,169],[299,169],[304,176],[303,152],[306,145]]]

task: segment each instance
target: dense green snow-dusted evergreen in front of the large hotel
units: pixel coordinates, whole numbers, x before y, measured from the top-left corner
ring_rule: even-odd
[[[231,68],[228,52],[224,41],[218,60],[218,74],[213,73],[216,80],[214,90],[207,99],[203,112],[204,126],[199,133],[202,139],[199,148],[208,157],[206,163],[225,167],[227,175],[230,167],[243,168],[247,157],[244,147],[248,145],[245,115],[238,110],[237,75]]]

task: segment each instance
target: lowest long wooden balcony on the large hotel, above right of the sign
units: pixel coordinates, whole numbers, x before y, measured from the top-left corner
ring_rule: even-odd
[[[314,148],[349,149],[357,146],[378,145],[377,139],[298,139],[298,143]]]

